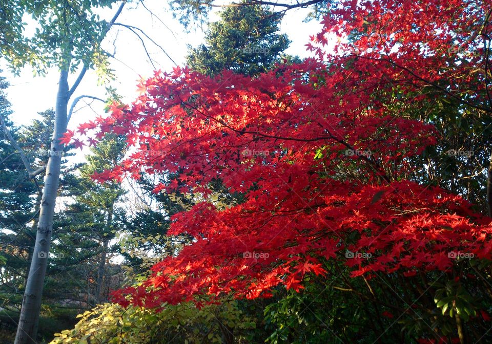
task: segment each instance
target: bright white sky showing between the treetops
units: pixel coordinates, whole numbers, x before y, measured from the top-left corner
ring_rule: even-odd
[[[197,47],[201,44],[204,36],[203,30],[206,27],[195,27],[195,29],[191,28],[190,32],[185,32],[183,26],[167,10],[165,3],[159,0],[146,0],[145,4],[148,9],[154,12],[155,16],[152,16],[141,4],[133,3],[125,6],[117,22],[141,28],[178,65],[184,65],[188,45]],[[99,12],[99,14],[109,20],[116,8],[117,6],[113,6],[113,9]],[[210,20],[217,20],[217,11],[215,10],[210,15]],[[316,20],[303,23],[303,19],[308,13],[309,10],[307,9],[291,10],[282,20],[280,32],[286,33],[292,41],[286,53],[300,57],[310,56],[306,52],[305,44],[308,43],[310,35],[320,31],[321,25]],[[29,20],[27,21],[29,23]],[[34,29],[35,25],[31,22],[26,33],[29,34]],[[147,40],[146,44],[149,55],[154,60],[155,69],[161,69],[162,71],[172,70],[175,66],[174,63],[152,42]],[[126,28],[114,27],[106,38],[104,47],[110,52],[114,52],[114,47],[116,47],[116,58],[111,58],[110,62],[117,79],[112,81],[110,85],[117,90],[125,103],[130,103],[138,95],[136,91],[138,80],[141,77],[150,77],[153,74],[154,67],[149,62],[138,37]],[[7,98],[12,104],[13,116],[11,119],[14,123],[19,125],[29,124],[34,118],[38,117],[37,112],[54,107],[58,82],[58,71],[56,69],[50,70],[43,77],[35,76],[30,68],[24,68],[20,72],[20,76],[15,77],[9,73],[8,67],[3,60],[0,60],[0,69],[4,70],[2,75],[7,77],[7,81],[10,82],[10,87],[7,89]],[[69,78],[69,84],[73,83],[75,78],[76,75],[72,75]],[[97,83],[97,77],[94,72],[86,73],[72,100],[79,95],[91,95],[105,99],[105,88],[98,86]],[[93,101],[90,107],[85,105],[85,100],[78,102],[76,112],[68,125],[69,129],[73,129],[78,124],[91,120],[97,115],[103,115],[104,117],[103,103]]]

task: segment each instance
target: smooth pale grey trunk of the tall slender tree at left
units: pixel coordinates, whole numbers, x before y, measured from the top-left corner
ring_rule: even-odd
[[[63,150],[63,146],[58,139],[67,130],[67,104],[69,98],[67,77],[68,70],[60,72],[58,93],[56,95],[55,128],[51,141],[50,157],[46,167],[36,242],[20,311],[15,344],[32,344],[36,342],[37,324],[41,309],[41,297],[48,264],[56,194],[60,177],[61,154],[59,152]]]

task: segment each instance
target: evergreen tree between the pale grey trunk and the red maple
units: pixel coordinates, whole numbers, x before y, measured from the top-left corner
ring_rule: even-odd
[[[107,299],[103,295],[108,254],[116,232],[116,213],[122,210],[117,202],[124,195],[119,183],[99,184],[92,179],[96,172],[114,167],[125,155],[126,143],[114,135],[107,135],[86,156],[87,163],[70,175],[62,186],[74,203],[68,205],[55,222],[54,244],[65,242],[72,260],[80,261],[73,281],[89,281],[81,286],[87,304],[95,305]],[[68,179],[68,178],[67,178]],[[75,250],[74,248],[79,248]],[[107,293],[106,293],[107,294]]]

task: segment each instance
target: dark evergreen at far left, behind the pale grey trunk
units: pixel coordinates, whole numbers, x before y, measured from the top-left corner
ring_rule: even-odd
[[[1,270],[0,305],[16,309],[22,302],[32,257],[43,178],[29,175],[9,136],[18,142],[31,166],[45,166],[53,111],[39,113],[42,119],[35,120],[29,127],[15,126],[9,118],[12,111],[4,93],[7,87],[5,78],[0,78],[3,122],[0,131],[0,255],[5,260]]]

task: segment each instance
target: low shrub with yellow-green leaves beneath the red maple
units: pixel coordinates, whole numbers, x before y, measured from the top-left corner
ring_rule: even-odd
[[[247,343],[245,330],[255,327],[235,302],[200,309],[191,302],[166,305],[160,312],[107,303],[77,317],[75,327],[56,333],[51,344],[222,343],[231,333],[235,343]]]

